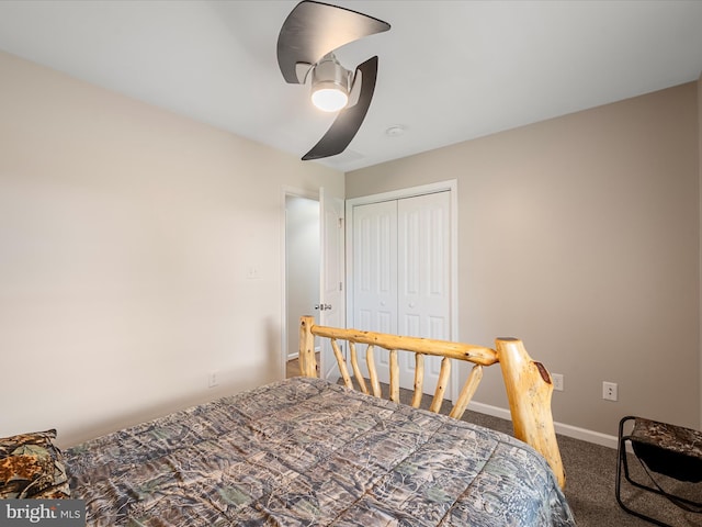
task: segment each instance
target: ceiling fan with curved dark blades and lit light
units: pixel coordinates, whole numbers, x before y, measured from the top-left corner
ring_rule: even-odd
[[[375,91],[377,56],[346,69],[333,52],[390,29],[387,22],[350,9],[305,0],[291,11],[278,37],[278,65],[286,82],[312,86],[313,103],[338,111],[337,119],[303,160],[341,154],[365,119]]]

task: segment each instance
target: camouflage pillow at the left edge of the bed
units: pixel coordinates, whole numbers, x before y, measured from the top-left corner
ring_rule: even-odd
[[[56,430],[0,438],[0,498],[70,497]]]

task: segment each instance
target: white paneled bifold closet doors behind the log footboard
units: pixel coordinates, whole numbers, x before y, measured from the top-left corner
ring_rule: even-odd
[[[354,327],[451,338],[450,206],[450,192],[437,192],[353,208]],[[400,360],[400,385],[412,389],[414,356]],[[375,361],[387,382],[388,354],[376,350]],[[433,393],[440,366],[426,358],[424,392]]]

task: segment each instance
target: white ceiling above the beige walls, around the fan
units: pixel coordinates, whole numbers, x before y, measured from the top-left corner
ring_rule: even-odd
[[[348,171],[697,80],[702,1],[349,1],[392,25],[344,46],[378,55]],[[287,85],[280,27],[295,0],[0,1],[0,49],[304,155],[333,116]],[[0,83],[1,87],[1,83]],[[385,134],[401,125],[399,137]]]

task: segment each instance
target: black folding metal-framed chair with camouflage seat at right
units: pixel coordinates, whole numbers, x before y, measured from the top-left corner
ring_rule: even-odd
[[[624,435],[626,422],[634,425],[629,435]],[[641,461],[650,484],[634,481],[629,472],[626,441],[631,444],[634,456]],[[690,512],[702,513],[702,503],[666,492],[655,480],[652,472],[673,478],[678,481],[699,483],[702,481],[702,433],[642,417],[626,416],[619,423],[619,446],[616,463],[616,501],[629,514],[664,527],[670,527],[659,519],[627,507],[621,498],[622,468],[624,478],[632,485],[666,497],[673,505]]]

